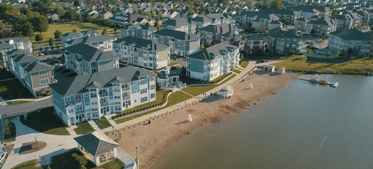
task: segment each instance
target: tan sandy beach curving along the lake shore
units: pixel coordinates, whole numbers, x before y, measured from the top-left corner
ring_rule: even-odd
[[[211,123],[225,119],[250,109],[256,103],[282,91],[288,86],[295,73],[269,74],[255,71],[233,86],[233,96],[229,99],[219,99],[213,96],[206,102],[191,105],[175,113],[121,132],[120,148],[136,158],[135,147],[138,147],[138,158],[141,169],[148,169],[157,157],[169,146],[195,131],[203,129]],[[253,83],[253,89],[249,89]],[[223,86],[221,86],[223,87]],[[188,115],[192,122],[185,122]],[[115,135],[111,135],[115,139]]]

